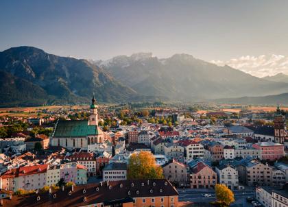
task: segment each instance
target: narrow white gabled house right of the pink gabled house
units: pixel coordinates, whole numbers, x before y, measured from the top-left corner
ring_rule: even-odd
[[[238,171],[232,165],[220,165],[216,167],[219,184],[225,184],[231,190],[239,187]]]

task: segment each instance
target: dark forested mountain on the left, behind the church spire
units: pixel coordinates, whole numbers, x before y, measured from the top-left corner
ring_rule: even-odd
[[[0,106],[126,101],[136,92],[87,60],[64,58],[35,47],[0,53]]]

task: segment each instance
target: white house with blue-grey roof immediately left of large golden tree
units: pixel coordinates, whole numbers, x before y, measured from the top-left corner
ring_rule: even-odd
[[[103,169],[103,181],[127,180],[127,164],[112,162]]]

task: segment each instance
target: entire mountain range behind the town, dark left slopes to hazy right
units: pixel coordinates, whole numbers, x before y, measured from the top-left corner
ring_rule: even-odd
[[[199,101],[286,93],[287,82],[266,80],[187,54],[152,53],[106,61],[60,57],[35,47],[0,52],[0,106],[127,101]]]

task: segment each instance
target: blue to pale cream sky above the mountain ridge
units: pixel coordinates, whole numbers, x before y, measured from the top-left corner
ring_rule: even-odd
[[[2,0],[0,51],[29,45],[94,60],[137,52],[159,58],[189,53],[217,64],[234,60],[238,69],[251,57],[252,65],[261,67],[245,66],[254,75],[288,73],[288,62],[283,69],[263,69],[265,62],[257,62],[261,56],[288,57],[287,8],[284,0]]]

